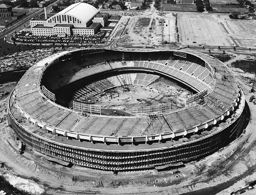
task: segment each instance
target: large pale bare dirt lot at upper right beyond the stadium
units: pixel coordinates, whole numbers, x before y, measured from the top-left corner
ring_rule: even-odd
[[[256,20],[232,20],[228,15],[178,14],[177,25],[179,41],[183,45],[256,45]]]

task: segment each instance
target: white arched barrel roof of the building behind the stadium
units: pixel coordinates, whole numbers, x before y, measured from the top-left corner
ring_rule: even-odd
[[[81,20],[83,23],[86,23],[93,16],[95,16],[98,12],[99,12],[98,9],[96,9],[92,5],[79,2],[76,4],[70,5],[69,7],[63,9],[56,15],[74,16],[75,18],[78,18],[79,20]],[[56,16],[56,15],[54,15],[54,16]]]

